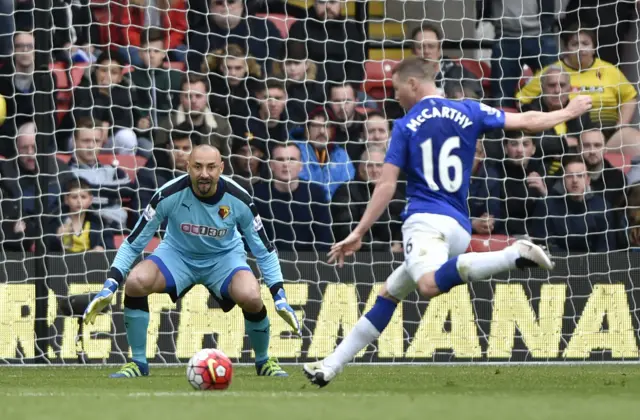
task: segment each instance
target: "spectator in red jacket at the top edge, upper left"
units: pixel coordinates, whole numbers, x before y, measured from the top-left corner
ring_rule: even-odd
[[[136,67],[143,67],[138,54],[142,31],[165,29],[170,58],[184,61],[187,33],[187,0],[112,0],[109,43],[115,44]]]

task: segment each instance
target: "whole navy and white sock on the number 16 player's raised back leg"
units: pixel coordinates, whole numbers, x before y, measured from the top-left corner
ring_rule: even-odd
[[[454,257],[435,273],[438,289],[446,293],[459,284],[484,280],[494,274],[516,268],[520,254],[515,248],[495,252],[472,252]]]

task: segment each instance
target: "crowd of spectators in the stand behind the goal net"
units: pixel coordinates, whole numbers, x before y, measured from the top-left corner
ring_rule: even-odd
[[[364,213],[402,111],[393,92],[380,102],[364,90],[365,23],[347,17],[344,2],[316,0],[283,33],[257,13],[264,2],[54,0],[53,56],[71,88],[68,110],[55,114],[46,168],[35,158],[33,2],[5,3],[0,17],[12,17],[0,24],[5,251],[33,249],[40,233],[52,251],[114,248],[114,236],[130,231],[158,187],[185,173],[199,144],[220,149],[225,175],[253,195],[278,249],[326,250]],[[639,244],[626,232],[640,223],[631,210],[640,179],[605,158],[609,150],[640,155],[636,88],[617,62],[598,57],[595,32],[577,23],[558,32],[548,2],[488,3],[497,33],[490,86],[443,54],[439,27],[410,33],[412,53],[439,65],[443,96],[519,112],[561,109],[584,93],[594,108],[543,133],[479,139],[473,233],[528,236],[572,252]],[[519,86],[523,64],[536,73]],[[120,167],[125,157],[139,167]],[[402,251],[405,203],[401,182],[365,250]]]

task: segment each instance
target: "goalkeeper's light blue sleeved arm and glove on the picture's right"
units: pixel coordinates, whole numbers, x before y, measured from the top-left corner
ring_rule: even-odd
[[[284,280],[278,254],[267,237],[258,210],[253,203],[243,206],[239,222],[249,249],[256,257],[264,282],[273,296],[276,312],[291,326],[295,333],[300,335],[300,322],[287,302],[284,291]]]

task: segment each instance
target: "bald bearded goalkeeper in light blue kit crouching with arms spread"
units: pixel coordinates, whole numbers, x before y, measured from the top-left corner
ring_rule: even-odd
[[[297,334],[300,324],[287,303],[278,256],[251,197],[238,184],[221,176],[223,169],[218,149],[209,145],[193,149],[187,175],[156,191],[118,250],[104,288],[87,307],[84,322],[94,323],[126,278],[124,318],[133,361],[111,377],[149,374],[147,296],[168,293],[176,301],[196,284],[207,287],[218,301],[233,302],[242,308],[258,375],[288,376],[267,354],[269,318],[260,297],[260,285],[247,265],[242,235],[271,290],[276,311]],[[164,220],[168,222],[164,240],[153,255],[128,274],[131,264]]]

